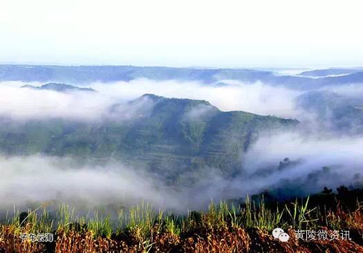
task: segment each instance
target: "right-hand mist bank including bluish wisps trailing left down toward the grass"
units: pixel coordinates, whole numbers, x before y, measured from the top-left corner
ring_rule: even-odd
[[[261,136],[245,153],[238,176],[226,179],[212,170],[212,175],[198,180],[194,198],[206,205],[211,198],[239,199],[274,189],[295,198],[295,194],[319,193],[324,187],[362,186],[362,147],[363,137],[325,139],[301,132]],[[289,165],[279,169],[285,158]]]

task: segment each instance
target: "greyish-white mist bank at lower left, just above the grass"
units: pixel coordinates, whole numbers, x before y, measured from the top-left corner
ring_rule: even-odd
[[[97,166],[54,156],[0,156],[0,173],[2,207],[57,201],[93,209],[147,200],[156,207],[180,209],[161,180],[120,162]]]

